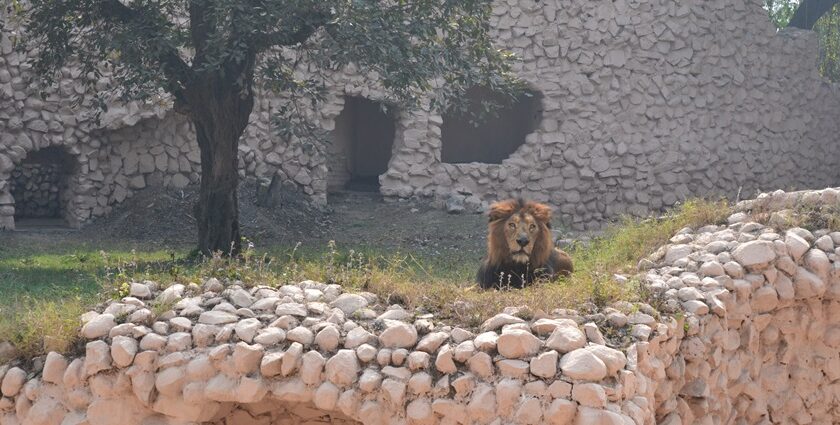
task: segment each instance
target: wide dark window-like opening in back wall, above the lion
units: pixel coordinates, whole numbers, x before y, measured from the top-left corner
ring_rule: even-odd
[[[468,111],[447,112],[441,125],[441,161],[501,164],[534,132],[542,120],[542,95],[526,91],[505,100],[486,87],[467,90]],[[499,105],[494,113],[481,114],[488,104]]]

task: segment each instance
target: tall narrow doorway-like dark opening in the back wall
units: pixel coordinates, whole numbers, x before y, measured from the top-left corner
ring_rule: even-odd
[[[383,106],[363,97],[344,98],[328,147],[328,191],[379,191],[396,133],[395,113]]]

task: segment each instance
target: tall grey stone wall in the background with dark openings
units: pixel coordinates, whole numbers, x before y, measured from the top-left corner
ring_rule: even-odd
[[[441,161],[446,117],[423,107],[400,111],[381,191],[429,197],[439,206],[459,198],[453,202],[473,210],[522,195],[557,206],[567,225],[590,229],[689,196],[833,184],[840,178],[837,88],[817,75],[813,34],[775,33],[761,5],[498,2],[495,36],[522,59],[515,71],[539,94],[538,128],[501,164],[447,164]],[[193,132],[165,101],[115,105],[97,124],[89,104],[68,100],[84,91],[85,76],[65,70],[58,89],[40,100],[28,89],[30,70],[13,52],[12,38],[13,30],[4,28],[0,228],[14,226],[11,170],[47,146],[65,146],[77,157],[67,208],[79,222],[107,213],[145,185],[197,180]],[[386,99],[352,68],[327,83],[325,103],[305,111],[324,131],[335,128],[344,96]],[[272,132],[270,116],[283,102],[273,95],[257,102],[240,149],[242,172],[290,182],[324,203],[329,149]]]

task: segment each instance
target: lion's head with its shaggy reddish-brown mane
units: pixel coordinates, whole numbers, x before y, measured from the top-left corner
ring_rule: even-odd
[[[490,264],[544,264],[553,247],[550,222],[547,205],[520,199],[491,205],[487,235]]]

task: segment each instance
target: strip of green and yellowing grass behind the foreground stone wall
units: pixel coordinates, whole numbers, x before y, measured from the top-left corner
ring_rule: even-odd
[[[119,298],[128,282],[161,285],[200,283],[208,277],[245,285],[279,286],[312,279],[377,294],[386,304],[435,313],[438,320],[477,326],[504,307],[523,315],[555,308],[599,306],[618,300],[648,301],[635,279],[621,284],[615,273],[632,275],[639,259],[683,227],[721,223],[722,202],[690,201],[665,218],[624,220],[585,247],[571,250],[575,273],[523,290],[479,291],[473,285],[477,260],[457,256],[417,257],[375,248],[267,247],[247,250],[240,261],[197,260],[186,250],[109,253],[61,246],[36,252],[0,251],[0,341],[11,341],[22,357],[68,351],[78,334],[79,315],[98,302]]]

